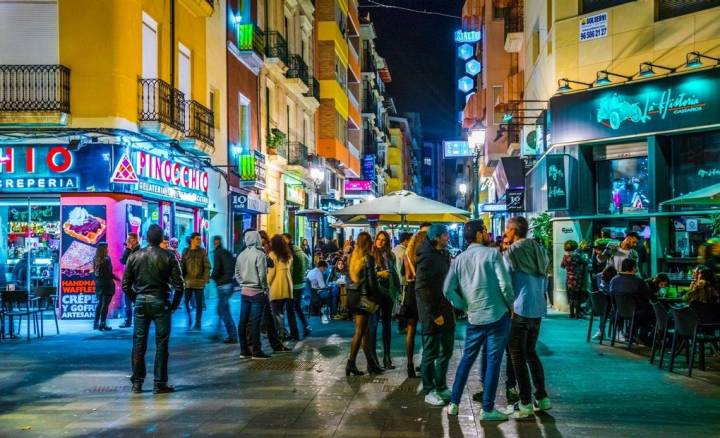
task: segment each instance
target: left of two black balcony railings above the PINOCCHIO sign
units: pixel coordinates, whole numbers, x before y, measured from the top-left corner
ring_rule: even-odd
[[[160,122],[185,132],[185,94],[162,79],[139,79],[141,122]]]

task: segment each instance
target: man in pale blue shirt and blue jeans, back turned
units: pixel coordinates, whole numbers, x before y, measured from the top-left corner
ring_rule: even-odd
[[[488,246],[490,240],[483,221],[465,224],[463,238],[468,248],[455,259],[445,280],[445,295],[458,308],[465,310],[468,324],[465,349],[455,373],[448,414],[457,415],[470,369],[483,345],[487,355],[484,373],[482,410],[485,421],[507,420],[507,415],[495,409],[495,395],[502,357],[510,338],[513,289],[510,274],[502,254]]]

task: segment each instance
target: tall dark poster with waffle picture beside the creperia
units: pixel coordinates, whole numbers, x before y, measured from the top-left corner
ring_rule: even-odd
[[[104,205],[63,205],[61,211],[60,311],[64,319],[92,319],[95,315],[93,259],[105,242]]]

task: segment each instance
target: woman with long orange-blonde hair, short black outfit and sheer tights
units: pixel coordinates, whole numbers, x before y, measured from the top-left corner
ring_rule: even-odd
[[[368,316],[377,311],[375,302],[378,295],[378,278],[375,272],[375,260],[372,256],[373,240],[367,232],[358,234],[355,250],[350,256],[350,286],[348,287],[348,308],[355,315],[355,334],[350,345],[350,357],[345,366],[345,375],[362,376],[357,369],[358,352],[362,346],[368,363],[368,373],[381,374],[382,368],[370,352],[367,328]]]

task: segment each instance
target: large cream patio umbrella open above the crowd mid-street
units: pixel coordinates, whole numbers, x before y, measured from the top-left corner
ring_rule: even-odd
[[[328,213],[346,224],[379,223],[419,224],[422,222],[465,223],[470,212],[442,202],[419,196],[407,190],[392,192],[385,196],[351,205]]]

